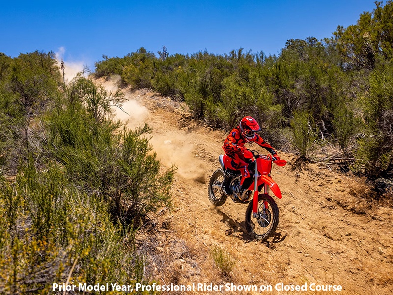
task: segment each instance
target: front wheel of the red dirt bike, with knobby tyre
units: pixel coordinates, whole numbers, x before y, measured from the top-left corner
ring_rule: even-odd
[[[268,206],[265,206],[267,202]],[[266,208],[267,207],[267,208]],[[246,230],[253,238],[265,241],[273,236],[279,224],[279,208],[273,198],[267,194],[258,196],[258,212],[253,215],[253,200],[246,210]]]

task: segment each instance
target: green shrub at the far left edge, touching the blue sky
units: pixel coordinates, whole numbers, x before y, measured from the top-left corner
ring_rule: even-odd
[[[15,174],[26,161],[30,126],[61,95],[60,80],[52,52],[0,54],[0,173]]]

